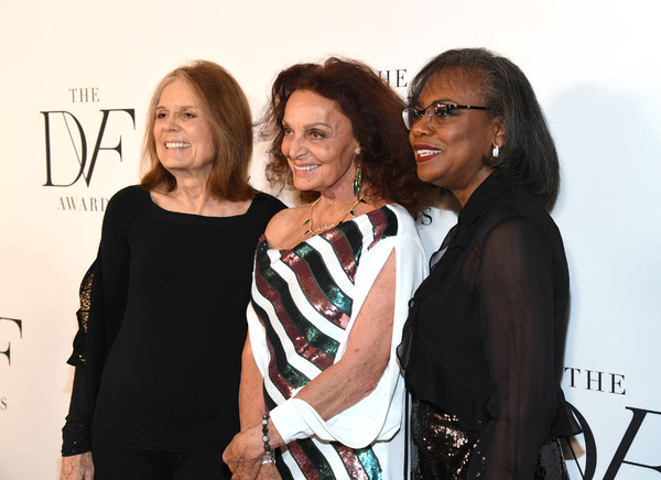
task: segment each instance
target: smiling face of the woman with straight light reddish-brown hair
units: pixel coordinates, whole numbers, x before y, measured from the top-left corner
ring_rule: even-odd
[[[163,88],[153,134],[159,161],[170,173],[206,181],[216,155],[212,126],[185,81],[175,79]]]

